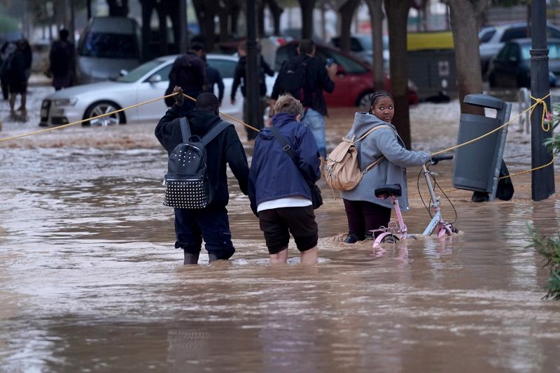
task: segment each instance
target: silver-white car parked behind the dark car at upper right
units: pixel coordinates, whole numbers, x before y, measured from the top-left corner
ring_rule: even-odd
[[[483,27],[479,33],[480,62],[482,64],[482,76],[486,76],[490,59],[507,43],[513,39],[527,37],[526,23],[500,24],[499,26]],[[560,38],[560,28],[547,24],[547,38]]]

